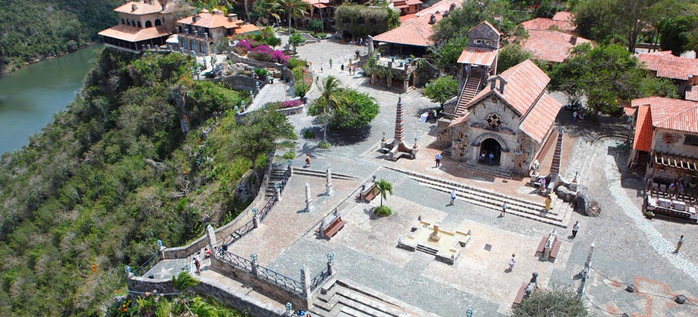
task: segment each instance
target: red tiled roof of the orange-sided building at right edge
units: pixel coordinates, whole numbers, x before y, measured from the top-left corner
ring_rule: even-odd
[[[698,102],[664,97],[635,99],[632,106],[649,105],[652,126],[698,133]]]

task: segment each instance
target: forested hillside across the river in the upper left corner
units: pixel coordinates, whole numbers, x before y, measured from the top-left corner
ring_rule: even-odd
[[[116,24],[123,0],[4,0],[0,8],[0,72],[61,56],[98,40]]]

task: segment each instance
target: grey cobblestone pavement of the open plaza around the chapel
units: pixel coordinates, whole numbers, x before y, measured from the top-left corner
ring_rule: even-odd
[[[340,277],[347,276],[421,309],[447,317],[463,316],[464,309],[472,306],[477,316],[502,316],[509,313],[513,294],[533,271],[541,274],[543,286],[561,285],[576,289],[579,286],[579,273],[593,242],[594,270],[590,273],[585,293],[593,313],[602,316],[606,314],[604,311],[628,313],[631,316],[698,315],[697,306],[678,305],[671,300],[677,294],[685,294],[690,301],[698,304],[698,243],[695,242],[698,237],[692,235],[698,228],[660,219],[649,221],[642,217],[640,178],[625,172],[627,154],[618,150],[618,139],[600,137],[625,135],[627,124],[610,118],[602,118],[601,123],[572,124],[569,113],[561,111],[558,123],[565,126],[568,135],[578,137],[575,142],[567,143],[571,145],[569,154],[566,154],[570,159],[568,166],[562,168],[563,175],[571,179],[575,171],[579,171],[578,180],[588,187],[592,198],[599,201],[602,213],[597,218],[574,214],[572,220],[580,221],[578,236],[571,240],[566,237],[571,232],[558,231],[563,241],[561,256],[555,263],[540,262],[535,258],[535,248],[540,237],[552,230],[551,226],[518,217],[498,218],[491,209],[464,201],[456,201],[456,206],[448,206],[447,194],[423,187],[407,175],[383,167],[413,168],[418,173],[442,173],[444,178],[461,178],[464,181],[469,178],[492,190],[518,191],[530,195],[519,182],[469,175],[459,172],[458,168],[433,168],[431,158],[438,151],[432,144],[434,130],[432,125],[420,123],[418,116],[426,108],[437,105],[422,97],[419,90],[402,94],[402,101],[406,111],[406,142],[411,144],[416,137],[425,156],[419,156],[412,161],[414,163],[381,160],[380,154],[374,150],[382,132],[392,139],[397,94],[369,87],[366,78],[339,73],[338,65],[343,56],[353,54],[358,47],[322,42],[300,46],[298,51],[315,66],[325,63],[324,72],[316,75],[337,75],[348,87],[375,97],[381,113],[367,128],[330,132],[330,149],[318,149],[318,139],[300,139],[296,149],[298,157],[293,164],[297,168],[304,166],[307,153],[311,155],[313,170],[332,168],[333,173],[353,175],[362,181],[374,174],[385,178],[392,182],[394,196],[389,196],[384,203],[393,209],[394,215],[375,218],[370,213],[370,207],[377,206],[378,199],[367,205],[347,197],[340,210],[342,218],[349,221],[335,238],[327,241],[318,239],[311,230],[317,225],[318,216],[273,210],[263,223],[268,227],[264,230],[273,232],[273,224],[279,224],[286,225],[285,230],[293,232],[287,232],[286,241],[263,242],[269,244],[270,248],[276,248],[260,258],[266,266],[295,278],[304,263],[313,273],[323,269],[324,256],[332,251]],[[334,60],[334,68],[328,68],[329,58]],[[311,92],[311,100],[315,93]],[[320,124],[305,113],[290,116],[289,120],[294,123],[297,132],[303,128],[314,128],[319,136]],[[445,165],[455,164],[444,161]],[[302,183],[292,180],[285,195],[302,197]],[[358,187],[359,184],[351,183],[349,187]],[[313,185],[313,188],[317,189],[318,185]],[[338,193],[350,192],[349,189],[339,190]],[[281,201],[275,209],[298,210],[302,200],[298,197]],[[318,197],[318,203],[320,200]],[[340,200],[339,197],[325,199],[315,212],[331,213],[332,204],[339,204]],[[397,249],[397,237],[409,230],[417,216],[425,220],[440,220],[444,228],[477,229],[473,230],[473,240],[463,249],[463,255],[455,266],[437,263],[427,254]],[[289,229],[294,227],[297,229]],[[680,235],[686,235],[681,254],[671,254]],[[282,233],[272,236],[273,239],[285,237]],[[244,244],[239,247],[246,253],[262,245],[256,245],[252,237],[265,239],[264,235],[251,234],[245,238],[250,238],[249,241],[241,240]],[[278,247],[273,247],[276,244]],[[485,244],[492,246],[491,251],[484,251]],[[520,260],[512,273],[504,273],[509,252],[516,253]],[[257,253],[261,254],[261,251]],[[625,292],[623,283],[633,283],[640,292]]]

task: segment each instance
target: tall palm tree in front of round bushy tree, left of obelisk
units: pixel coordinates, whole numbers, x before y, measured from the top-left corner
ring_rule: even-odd
[[[325,77],[324,80],[318,80],[317,84],[320,92],[320,97],[313,100],[308,108],[308,114],[311,116],[320,116],[323,120],[323,143],[328,142],[328,125],[330,117],[339,109],[347,105],[348,99],[345,88],[335,76]]]

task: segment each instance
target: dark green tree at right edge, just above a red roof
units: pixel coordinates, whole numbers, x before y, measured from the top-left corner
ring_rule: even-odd
[[[690,49],[690,35],[698,32],[698,18],[692,15],[663,20],[659,31],[659,42],[663,51],[681,56]]]

